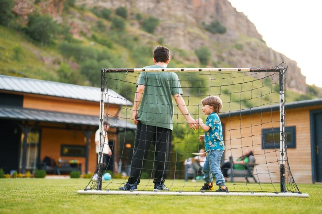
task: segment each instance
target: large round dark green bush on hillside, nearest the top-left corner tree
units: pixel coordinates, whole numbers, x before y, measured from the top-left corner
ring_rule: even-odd
[[[49,15],[41,16],[38,13],[29,15],[28,17],[28,35],[40,41],[42,45],[47,45],[60,31],[59,25],[52,20]]]

